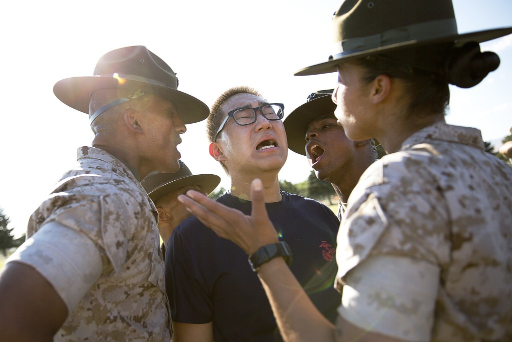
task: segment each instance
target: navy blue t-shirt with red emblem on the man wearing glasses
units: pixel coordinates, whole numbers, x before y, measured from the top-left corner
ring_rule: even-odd
[[[313,199],[281,194],[280,202],[267,203],[266,208],[280,239],[291,248],[290,269],[319,311],[334,321],[341,300],[333,288],[339,221],[328,207]],[[225,194],[218,202],[250,215],[248,201]],[[169,239],[165,285],[173,320],[189,324],[212,321],[217,342],[282,340],[247,254],[194,216],[185,219]]]

